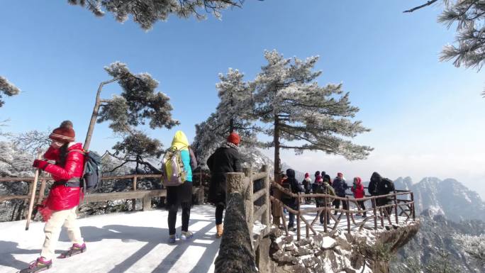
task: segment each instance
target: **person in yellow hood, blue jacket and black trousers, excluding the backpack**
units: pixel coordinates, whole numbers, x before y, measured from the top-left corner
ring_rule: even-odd
[[[179,186],[167,186],[167,209],[169,211],[168,226],[169,226],[169,243],[175,243],[177,233],[175,230],[175,223],[177,222],[177,211],[179,206],[182,206],[182,232],[180,239],[186,240],[192,238],[193,234],[189,231],[190,208],[192,203],[192,169],[197,167],[196,157],[191,147],[189,140],[181,130],[175,133],[172,140],[172,146],[177,150],[182,150],[180,156],[184,163],[184,170],[186,180]]]

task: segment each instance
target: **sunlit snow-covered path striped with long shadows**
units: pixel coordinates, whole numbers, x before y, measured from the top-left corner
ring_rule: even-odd
[[[88,251],[65,260],[55,259],[48,272],[69,273],[206,273],[213,272],[220,240],[216,240],[213,206],[194,206],[190,241],[166,243],[167,211],[111,213],[79,219]],[[180,232],[180,215],[177,233]],[[40,253],[44,223],[0,223],[0,272],[11,273],[28,266]],[[58,250],[70,246],[62,230]],[[59,251],[60,252],[60,251]],[[58,253],[56,251],[56,253]]]

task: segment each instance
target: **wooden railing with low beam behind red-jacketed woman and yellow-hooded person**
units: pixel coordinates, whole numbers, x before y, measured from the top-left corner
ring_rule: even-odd
[[[130,191],[114,191],[114,192],[106,192],[106,193],[92,193],[86,194],[84,196],[83,203],[91,203],[91,202],[101,202],[101,201],[113,201],[113,200],[131,200],[133,211],[135,210],[135,202],[136,199],[142,199],[143,201],[143,210],[147,211],[151,209],[151,199],[152,197],[161,197],[167,196],[166,189],[148,189],[148,190],[140,190],[138,189],[138,182],[141,179],[148,179],[148,178],[155,178],[155,179],[162,179],[162,174],[129,174],[129,175],[121,175],[121,176],[106,176],[101,177],[101,181],[104,180],[121,180],[121,179],[131,179],[132,184]],[[27,195],[11,195],[11,196],[0,196],[0,202],[13,200],[13,199],[30,199],[31,196],[35,196],[37,192],[37,185],[33,183],[33,177],[1,177],[0,182],[28,182],[29,191]],[[38,195],[35,196],[35,204],[40,204],[44,199],[44,192],[46,187],[48,186],[48,182],[53,182],[54,180],[52,177],[39,177],[38,181],[40,182],[40,189],[38,191]],[[193,194],[197,194],[199,199],[204,199],[204,187],[194,187]],[[34,200],[33,199],[33,200]],[[204,201],[204,200],[202,200]],[[30,214],[30,213],[28,213]]]

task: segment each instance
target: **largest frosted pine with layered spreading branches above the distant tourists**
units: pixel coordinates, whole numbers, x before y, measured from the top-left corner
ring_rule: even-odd
[[[321,150],[348,160],[364,159],[371,147],[350,141],[367,132],[360,121],[353,121],[359,108],[350,105],[342,84],[320,87],[313,72],[318,57],[286,59],[276,50],[264,52],[267,65],[252,87],[254,115],[267,125],[264,133],[273,136],[266,147],[274,147],[274,174],[279,175],[279,149]]]

